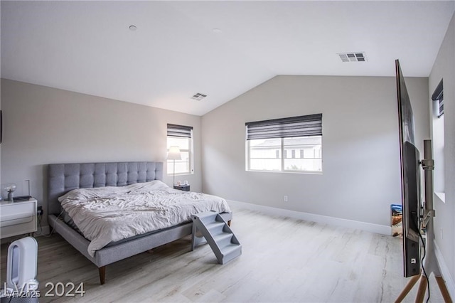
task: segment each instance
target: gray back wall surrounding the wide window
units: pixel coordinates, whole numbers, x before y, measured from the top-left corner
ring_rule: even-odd
[[[402,69],[406,73],[406,66]],[[406,81],[417,142],[422,142],[429,137],[428,79]],[[390,225],[390,204],[401,201],[395,87],[395,78],[283,75],[218,107],[202,119],[203,191],[233,201]],[[245,122],[319,112],[323,174],[245,171]]]

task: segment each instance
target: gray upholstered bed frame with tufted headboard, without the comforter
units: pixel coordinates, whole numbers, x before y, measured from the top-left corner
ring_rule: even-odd
[[[127,186],[134,186],[134,184],[137,184],[136,187],[142,187],[142,184],[151,184],[151,186],[159,184],[159,186],[162,186],[159,182],[162,178],[162,162],[48,165],[48,223],[53,228],[53,232],[60,234],[98,267],[102,285],[105,284],[106,265],[191,235],[193,223],[191,220],[173,223],[173,225],[159,230],[151,230],[130,238],[116,240],[102,248],[90,250],[89,247],[92,241],[87,240],[80,230],[76,230],[73,228],[74,226],[71,227],[68,220],[63,220],[63,213],[65,212],[63,212],[59,198],[64,195],[67,196],[70,191],[71,193],[78,191],[77,188],[113,187],[115,189],[117,187],[121,190],[127,188]],[[177,190],[173,188],[166,191],[173,193],[174,196],[179,194],[174,192]],[[221,212],[221,216],[230,222],[232,212]]]

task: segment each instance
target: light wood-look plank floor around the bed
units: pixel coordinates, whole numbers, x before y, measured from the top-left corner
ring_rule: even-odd
[[[393,302],[407,283],[399,238],[242,209],[234,209],[231,227],[242,255],[225,265],[208,245],[191,252],[183,238],[107,265],[105,285],[59,235],[38,237],[41,294],[47,282],[85,287],[84,297],[40,302]],[[1,245],[2,285],[6,251]],[[434,277],[430,289],[430,302],[443,302]]]

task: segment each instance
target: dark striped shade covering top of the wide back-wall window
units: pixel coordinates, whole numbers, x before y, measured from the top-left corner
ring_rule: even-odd
[[[322,135],[322,114],[247,122],[247,140]]]

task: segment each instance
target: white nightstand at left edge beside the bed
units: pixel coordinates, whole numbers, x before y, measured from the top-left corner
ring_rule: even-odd
[[[0,202],[0,239],[36,231],[36,198]]]

